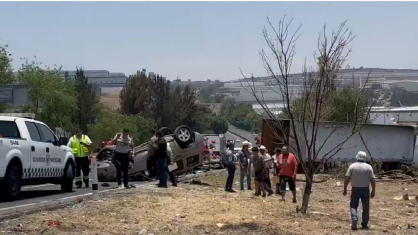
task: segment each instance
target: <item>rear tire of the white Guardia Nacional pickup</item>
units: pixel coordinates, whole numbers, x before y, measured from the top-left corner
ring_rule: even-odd
[[[2,197],[7,201],[13,201],[20,199],[20,189],[22,187],[22,174],[20,169],[11,165],[7,168],[4,174],[1,191]]]

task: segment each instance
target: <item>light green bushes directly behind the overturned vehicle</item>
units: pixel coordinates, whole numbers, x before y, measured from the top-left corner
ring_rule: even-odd
[[[104,108],[97,122],[89,126],[89,133],[94,144],[98,145],[104,139],[113,138],[128,128],[134,142],[140,144],[148,140],[148,132],[155,130],[155,123],[139,115],[123,115],[115,110]]]

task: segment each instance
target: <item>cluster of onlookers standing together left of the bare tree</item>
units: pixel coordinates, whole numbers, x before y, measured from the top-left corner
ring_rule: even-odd
[[[293,193],[293,202],[296,202],[296,171],[298,163],[296,157],[288,151],[287,146],[277,147],[275,154],[270,156],[265,146],[251,146],[249,142],[243,142],[243,147],[236,155],[232,152],[234,145],[227,144],[227,151],[224,164],[228,169],[228,179],[225,185],[225,191],[235,192],[232,189],[234,181],[235,169],[240,169],[240,189],[244,191],[244,179],[246,178],[247,189],[251,188],[251,166],[254,176],[254,196],[273,195],[274,193],[281,196],[285,200],[286,183],[289,190]],[[273,190],[270,180],[271,175],[278,177],[275,191]]]

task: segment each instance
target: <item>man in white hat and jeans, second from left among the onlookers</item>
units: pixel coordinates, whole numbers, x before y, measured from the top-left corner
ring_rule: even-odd
[[[244,191],[244,178],[247,177],[247,188],[251,189],[251,153],[249,152],[249,147],[251,143],[248,141],[243,142],[243,148],[238,151],[237,157],[240,164],[240,186],[241,191]]]

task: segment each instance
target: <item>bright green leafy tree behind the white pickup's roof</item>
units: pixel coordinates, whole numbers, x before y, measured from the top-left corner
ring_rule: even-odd
[[[51,127],[73,127],[71,119],[77,108],[74,83],[65,81],[61,68],[41,67],[41,63],[25,59],[18,79],[28,86],[26,111]]]

